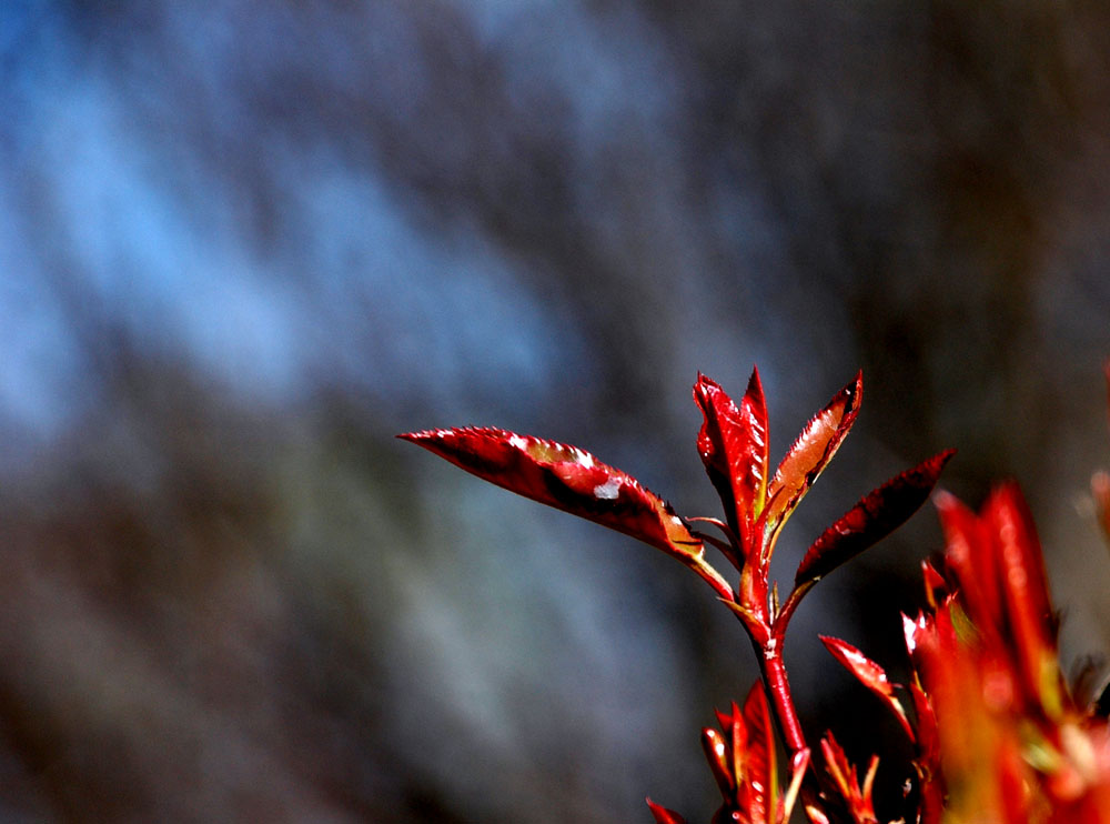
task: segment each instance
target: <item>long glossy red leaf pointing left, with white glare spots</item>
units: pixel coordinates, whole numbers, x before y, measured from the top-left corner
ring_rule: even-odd
[[[492,428],[440,429],[398,438],[533,501],[571,512],[663,550],[731,600],[728,583],[669,503],[577,446]]]

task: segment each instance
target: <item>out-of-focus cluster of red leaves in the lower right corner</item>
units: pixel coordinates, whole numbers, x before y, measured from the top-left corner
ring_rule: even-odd
[[[1078,706],[1060,672],[1057,620],[1021,493],[979,515],[937,496],[946,550],[925,565],[931,609],[904,620],[928,695],[922,821],[1110,822],[1110,726]],[[920,723],[920,721],[919,721]]]

